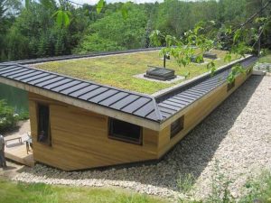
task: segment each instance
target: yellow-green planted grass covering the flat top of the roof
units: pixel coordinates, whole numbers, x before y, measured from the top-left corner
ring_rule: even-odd
[[[182,82],[179,80],[172,84],[165,84],[134,77],[135,75],[145,73],[147,65],[163,67],[164,60],[159,56],[158,52],[146,51],[80,60],[52,61],[34,66],[38,69],[46,69],[74,78],[87,79],[99,84],[153,94],[161,89],[170,88]],[[225,65],[226,62],[224,62],[223,58],[226,52],[214,52],[220,58],[220,60],[215,60],[217,67]],[[175,69],[176,74],[180,76],[185,76],[189,71],[190,76],[188,78],[199,76],[208,71],[206,64],[191,63],[186,68],[180,68],[174,60],[167,60],[166,67]]]

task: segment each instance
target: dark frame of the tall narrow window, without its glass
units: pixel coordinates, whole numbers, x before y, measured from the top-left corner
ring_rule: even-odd
[[[46,138],[46,141],[42,142],[40,140],[40,106],[46,106],[48,107],[49,115],[48,115],[48,135]],[[36,104],[36,112],[37,112],[37,142],[42,143],[44,145],[51,146],[51,120],[50,120],[50,105],[42,102],[38,102]]]

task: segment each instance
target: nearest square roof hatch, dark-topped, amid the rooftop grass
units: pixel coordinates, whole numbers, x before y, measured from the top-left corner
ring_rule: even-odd
[[[173,69],[164,69],[154,66],[148,66],[148,69],[144,75],[145,78],[154,78],[158,80],[170,80],[176,78],[175,70]]]

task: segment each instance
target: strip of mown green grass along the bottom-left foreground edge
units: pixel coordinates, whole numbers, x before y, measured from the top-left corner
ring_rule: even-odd
[[[42,183],[14,183],[0,179],[0,202],[5,203],[164,203],[158,198],[121,189],[51,186]]]

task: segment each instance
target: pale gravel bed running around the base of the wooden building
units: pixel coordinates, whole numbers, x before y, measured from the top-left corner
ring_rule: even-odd
[[[106,171],[63,172],[42,165],[21,169],[14,180],[57,184],[117,186],[177,198],[176,180],[191,173],[192,193],[206,197],[215,162],[229,176],[238,197],[245,180],[271,170],[271,77],[252,76],[188,134],[163,161]]]

